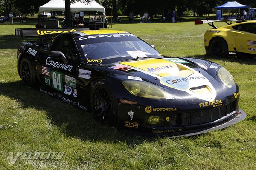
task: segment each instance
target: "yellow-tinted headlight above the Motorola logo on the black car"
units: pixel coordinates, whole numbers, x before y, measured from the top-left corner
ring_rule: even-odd
[[[172,94],[148,82],[123,81],[125,88],[133,95],[150,99],[174,99]]]

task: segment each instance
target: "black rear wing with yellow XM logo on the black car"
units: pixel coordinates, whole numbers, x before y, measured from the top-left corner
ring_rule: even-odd
[[[89,30],[89,28],[17,28],[15,29],[15,35],[20,37],[34,37],[82,30]]]

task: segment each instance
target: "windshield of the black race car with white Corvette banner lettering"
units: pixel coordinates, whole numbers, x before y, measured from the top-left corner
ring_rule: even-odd
[[[85,36],[78,39],[77,45],[80,45],[84,59],[114,59],[117,62],[137,57],[161,57],[151,45],[133,34]]]

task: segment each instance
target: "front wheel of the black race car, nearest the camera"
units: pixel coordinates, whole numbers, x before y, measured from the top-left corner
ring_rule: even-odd
[[[102,124],[115,126],[117,123],[117,104],[108,83],[103,80],[94,82],[90,94],[90,105],[94,119]]]

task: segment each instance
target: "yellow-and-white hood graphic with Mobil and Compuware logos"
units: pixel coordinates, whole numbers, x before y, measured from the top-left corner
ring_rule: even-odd
[[[142,59],[120,62],[110,68],[127,71],[164,88],[186,91],[199,99],[214,101],[216,91],[211,83],[214,79],[206,72],[203,75],[186,63],[189,62],[179,58]],[[136,77],[129,77],[129,79],[136,80]]]

